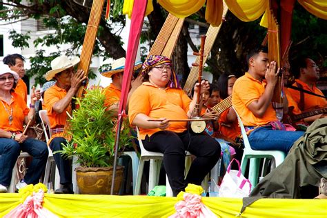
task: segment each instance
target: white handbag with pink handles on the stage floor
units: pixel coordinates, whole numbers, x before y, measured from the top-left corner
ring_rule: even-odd
[[[250,181],[242,175],[240,166],[239,170],[230,169],[233,161],[236,161],[239,166],[239,161],[237,159],[232,159],[232,161],[230,161],[226,174],[221,182],[219,197],[248,197],[252,185]]]

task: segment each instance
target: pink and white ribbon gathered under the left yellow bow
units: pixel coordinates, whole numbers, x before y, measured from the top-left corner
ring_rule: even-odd
[[[46,208],[43,208],[44,192],[33,192],[32,196],[28,196],[23,204],[19,204],[14,210],[10,211],[5,218],[9,217],[24,217],[24,218],[39,218],[39,217],[57,217]]]

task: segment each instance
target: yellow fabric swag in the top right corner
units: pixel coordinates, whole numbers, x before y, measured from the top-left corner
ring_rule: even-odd
[[[327,1],[326,0],[298,0],[301,6],[316,17],[327,19]]]

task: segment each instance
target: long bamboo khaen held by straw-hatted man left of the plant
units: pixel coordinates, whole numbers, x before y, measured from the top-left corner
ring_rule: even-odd
[[[81,61],[79,62],[78,69],[84,71],[85,75],[88,76],[88,69],[90,67],[90,61],[93,54],[93,48],[95,47],[95,38],[97,37],[97,31],[99,28],[99,23],[101,20],[101,13],[103,10],[103,4],[105,0],[95,0],[92,3],[92,8],[90,12],[90,18],[88,19],[88,26],[86,28],[86,34],[84,37],[83,48],[81,51]],[[88,82],[83,83],[83,86],[79,87],[77,90],[77,94],[75,97],[80,98],[83,96],[86,87],[88,86]],[[72,105],[74,102],[70,103],[68,106],[68,113],[72,112]],[[70,134],[71,124],[70,124],[70,116],[67,116],[65,127],[63,128],[63,137],[67,141],[72,140],[72,135]]]

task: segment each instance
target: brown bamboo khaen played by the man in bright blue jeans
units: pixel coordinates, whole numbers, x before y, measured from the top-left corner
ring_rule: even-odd
[[[281,50],[279,43],[279,24],[272,9],[271,0],[268,1],[268,59],[276,62],[276,69],[281,67]],[[278,81],[273,94],[273,107],[276,110],[277,119],[283,118],[283,80],[279,73]]]

